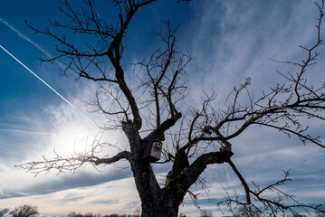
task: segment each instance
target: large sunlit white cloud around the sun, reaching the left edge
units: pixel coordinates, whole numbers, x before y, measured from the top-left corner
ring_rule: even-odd
[[[74,98],[69,96],[69,99],[76,107],[82,109],[82,112],[87,112],[81,99],[92,94],[94,88],[90,85],[78,91],[79,94]],[[13,143],[12,146],[5,147],[4,153],[2,153],[5,158],[1,158],[0,173],[3,175],[0,184],[1,189],[6,192],[5,195],[0,195],[3,198],[17,194],[55,192],[69,187],[89,186],[129,176],[127,173],[119,172],[119,169],[115,168],[114,165],[98,167],[99,170],[104,171],[105,176],[95,170],[92,165],[83,165],[77,171],[77,175],[57,175],[57,171],[53,171],[36,177],[19,167],[14,167],[14,165],[31,161],[42,161],[42,156],[52,159],[54,156],[53,149],[63,157],[70,157],[74,152],[90,151],[94,139],[100,137],[101,141],[110,142],[113,145],[119,144],[121,148],[125,147],[126,139],[122,137],[121,133],[100,132],[99,127],[81,116],[69,104],[64,101],[59,102],[59,104],[54,103],[58,102],[54,101],[52,105],[40,109],[42,110],[41,113],[16,113],[18,124],[9,129],[3,129],[3,131],[11,133],[11,138],[5,138]],[[102,115],[93,113],[90,116],[99,126],[102,124]],[[99,155],[113,156],[116,152],[116,148],[107,146]],[[123,162],[118,165],[126,166]],[[78,177],[84,182],[77,181],[73,186],[73,180],[77,180]]]

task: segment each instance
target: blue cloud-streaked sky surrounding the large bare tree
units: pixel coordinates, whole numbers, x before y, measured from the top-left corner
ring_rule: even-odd
[[[100,16],[111,19],[114,10],[109,1],[95,0]],[[96,86],[85,80],[75,82],[73,76],[61,75],[57,64],[42,64],[39,57],[55,55],[54,44],[33,32],[24,24],[27,19],[37,28],[47,24],[47,18],[64,20],[56,1],[5,1],[0,8],[0,45],[38,74],[53,89],[68,99],[93,122],[100,125],[103,117],[90,113],[84,101],[94,95]],[[72,1],[81,5],[81,1]],[[311,1],[214,1],[194,0],[177,4],[163,0],[141,9],[126,38],[125,67],[140,61],[158,45],[152,33],[161,19],[180,24],[178,47],[192,53],[187,102],[202,96],[202,90],[217,92],[215,107],[222,107],[229,91],[244,78],[253,79],[252,90],[262,90],[281,82],[276,70],[294,70],[279,65],[270,58],[301,60],[304,53],[298,45],[310,45],[315,37],[317,11]],[[324,28],[322,29],[324,33]],[[78,39],[80,42],[87,39]],[[324,49],[320,52],[324,52]],[[315,84],[325,80],[324,58],[312,68],[309,80]],[[83,166],[75,174],[38,175],[26,173],[14,165],[53,156],[53,148],[63,156],[73,150],[82,151],[98,134],[96,127],[80,112],[53,93],[17,61],[0,50],[0,208],[32,203],[43,213],[67,212],[133,212],[139,206],[129,170],[104,166],[97,172]],[[306,120],[308,121],[308,120]],[[312,131],[324,137],[324,123],[308,123]],[[121,132],[104,135],[111,143],[125,142]],[[292,169],[293,181],[284,186],[304,203],[325,202],[325,151],[318,146],[279,135],[278,132],[251,128],[234,141],[234,162],[248,182],[267,184],[282,177],[282,169]],[[167,166],[155,166],[158,175],[167,173]],[[223,188],[243,191],[239,181],[226,165],[209,166],[206,173],[209,197],[213,201],[224,197]],[[199,188],[194,188],[200,192]],[[214,203],[201,205],[217,212]],[[180,212],[197,216],[196,208],[186,198]]]

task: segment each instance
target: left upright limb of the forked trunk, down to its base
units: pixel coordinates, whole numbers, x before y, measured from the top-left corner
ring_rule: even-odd
[[[177,200],[172,191],[160,188],[150,163],[142,159],[145,146],[151,141],[141,139],[133,123],[124,122],[123,131],[129,139],[129,163],[141,200],[142,217],[177,217],[182,200]]]

